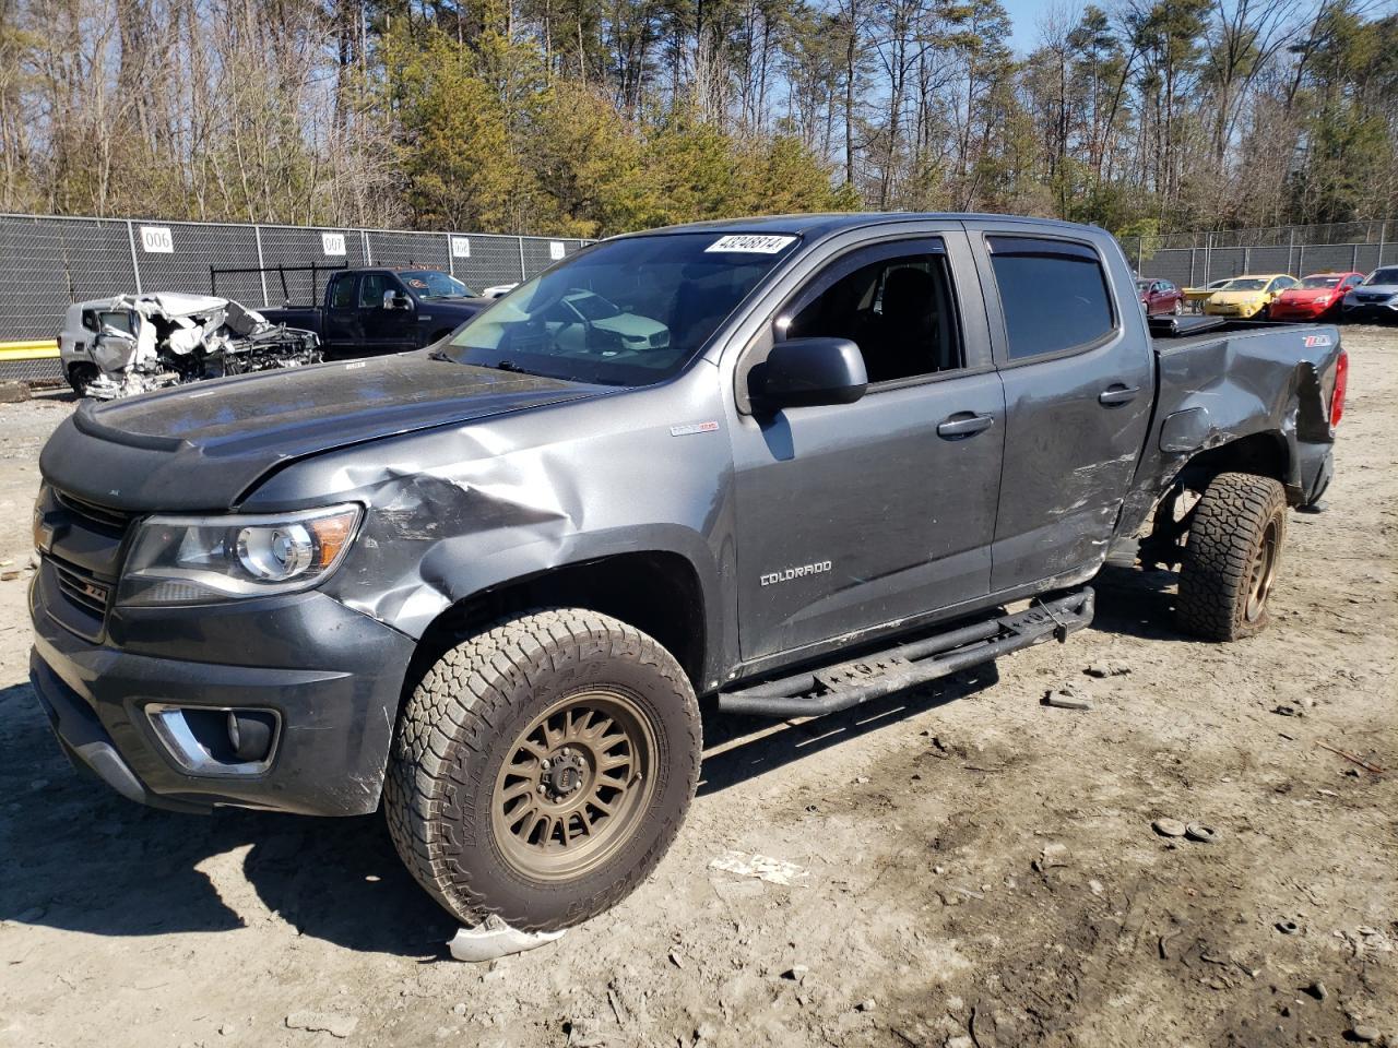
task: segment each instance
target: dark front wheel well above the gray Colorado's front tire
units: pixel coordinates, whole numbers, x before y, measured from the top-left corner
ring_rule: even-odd
[[[587,608],[658,640],[699,687],[705,660],[703,592],[678,553],[637,552],[565,565],[478,592],[439,615],[422,634],[408,686],[442,653],[489,623],[535,608]]]

